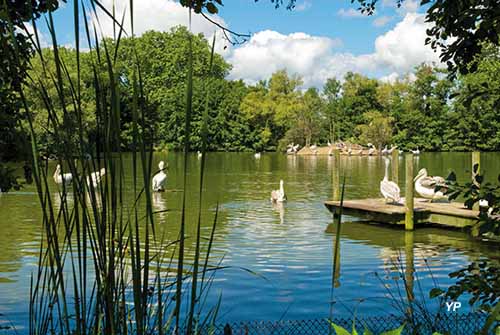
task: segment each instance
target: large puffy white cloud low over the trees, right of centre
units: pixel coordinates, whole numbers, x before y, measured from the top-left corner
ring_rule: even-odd
[[[438,55],[425,45],[428,27],[424,15],[407,14],[375,40],[373,53],[363,55],[339,52],[338,39],[261,31],[227,57],[233,65],[230,78],[255,83],[286,68],[303,78],[304,87],[322,86],[327,78],[342,78],[348,71],[378,77],[390,73],[385,80],[394,79],[423,62],[439,61]]]

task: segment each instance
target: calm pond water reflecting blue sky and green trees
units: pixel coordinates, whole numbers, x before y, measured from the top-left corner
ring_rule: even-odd
[[[169,164],[168,191],[156,194],[160,229],[176,238],[182,199],[182,155],[155,154]],[[126,161],[131,163],[131,157]],[[404,189],[404,159],[399,184]],[[55,165],[55,163],[53,164]],[[189,161],[187,189],[188,234],[193,236],[198,204],[200,161]],[[415,160],[415,171],[426,167],[430,174],[457,172],[459,180],[470,175],[470,154],[424,153]],[[55,166],[51,166],[54,168]],[[481,168],[495,178],[500,154],[483,154]],[[334,236],[325,232],[332,216],[323,201],[332,196],[333,159],[263,154],[209,153],[203,199],[204,234],[209,235],[217,203],[218,228],[212,262],[228,266],[216,274],[209,305],[222,294],[222,320],[311,319],[328,316],[332,282]],[[379,157],[342,157],[346,174],[346,198],[377,197],[384,163]],[[487,176],[488,177],[488,176]],[[288,202],[272,205],[270,191],[285,181]],[[50,181],[52,182],[52,180]],[[127,180],[128,196],[132,181]],[[57,195],[54,194],[57,202]],[[345,221],[355,218],[345,217]],[[0,196],[0,319],[22,329],[27,322],[31,273],[36,269],[41,236],[41,217],[34,186]],[[499,261],[497,247],[472,241],[467,234],[437,228],[413,233],[400,229],[346,223],[342,228],[340,276],[333,293],[337,315],[383,315],[394,312],[388,289],[399,285],[394,259],[413,252],[418,285],[417,297],[427,297],[434,281],[446,286],[447,277],[479,258]],[[192,254],[193,239],[188,240]],[[410,255],[410,254],[409,254]],[[188,256],[189,257],[189,256]],[[242,268],[255,272],[251,274]],[[378,274],[376,276],[375,274]],[[363,298],[362,301],[360,299]],[[464,303],[465,305],[465,303]]]

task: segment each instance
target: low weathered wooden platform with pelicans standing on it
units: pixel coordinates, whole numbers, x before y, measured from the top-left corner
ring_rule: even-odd
[[[326,201],[325,206],[334,214],[340,209],[340,201]],[[385,224],[405,224],[404,198],[401,204],[388,204],[384,199],[344,200],[342,214],[354,216],[364,221]],[[413,218],[415,227],[440,225],[452,228],[471,227],[477,223],[479,211],[470,210],[459,202],[429,202],[414,199]]]

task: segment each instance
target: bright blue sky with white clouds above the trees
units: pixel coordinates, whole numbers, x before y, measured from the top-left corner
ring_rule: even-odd
[[[75,45],[72,1],[61,3],[54,15],[61,45]],[[126,11],[125,27],[130,27],[129,0],[114,2],[118,17]],[[111,9],[113,0],[101,3]],[[406,0],[401,8],[396,7],[396,0],[380,0],[373,16],[361,14],[350,0],[297,0],[291,11],[285,6],[276,9],[271,0],[223,3],[212,19],[249,34],[246,43],[231,45],[217,27],[199,15],[192,17],[191,29],[210,40],[217,32],[216,50],[232,65],[228,79],[253,84],[286,69],[302,77],[304,88],[321,88],[328,78],[342,79],[349,71],[394,81],[411,78],[415,66],[423,62],[439,63],[438,54],[424,43],[429,24],[418,0]],[[187,9],[177,1],[134,2],[136,35],[147,30],[168,31],[188,22]],[[39,26],[48,41],[47,30]],[[105,15],[100,16],[99,26],[100,34],[113,35],[112,22]],[[83,39],[83,27],[80,33]]]

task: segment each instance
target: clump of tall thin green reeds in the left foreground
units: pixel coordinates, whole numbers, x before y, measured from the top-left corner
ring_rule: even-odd
[[[73,2],[76,80],[69,75],[59,55],[52,14],[48,13],[46,23],[55,71],[45,66],[37,22],[32,21],[35,28],[32,42],[37,57],[42,60],[42,71],[31,75],[26,85],[35,87],[42,97],[43,108],[48,115],[47,129],[61,143],[53,154],[63,173],[72,174],[73,182],[71,185],[62,184],[57,190],[50,182],[52,175],[48,162],[39,157],[33,128],[34,115],[21,90],[19,94],[31,138],[33,177],[43,217],[38,268],[31,278],[30,334],[194,334],[200,327],[213,324],[217,316],[220,301],[203,313],[200,305],[202,295],[206,294],[213,278],[208,272],[217,269],[217,266],[209,264],[217,211],[206,243],[202,243],[200,229],[208,102],[203,117],[195,257],[190,265],[185,258],[185,192],[178,226],[176,223],[169,224],[171,229],[179,228],[179,237],[168,240],[156,227],[157,213],[152,206],[150,191],[150,176],[154,172],[153,148],[148,141],[154,138],[154,130],[148,127],[146,121],[148,97],[139,62],[136,62],[133,76],[129,78],[133,87],[132,201],[127,201],[125,195],[127,176],[120,139],[122,92],[117,55],[122,36],[128,34],[132,39],[134,37],[133,7],[134,1],[130,0],[131,27],[126,32],[123,24],[125,13],[117,17],[114,8],[109,12],[97,0]],[[90,16],[96,20],[89,21]],[[113,21],[115,34],[111,40],[100,38],[103,16]],[[80,28],[84,28],[90,48],[98,125],[96,138],[100,139],[97,142],[92,142],[83,122]],[[214,43],[215,39],[210,64],[206,65],[209,68],[212,67]],[[187,184],[193,97],[191,48],[188,66],[184,189]],[[49,81],[44,78],[49,78]],[[206,79],[208,83],[210,78]],[[55,97],[49,94],[49,85],[56,88]],[[206,99],[209,99],[208,93]],[[106,171],[102,182],[96,185],[88,182],[88,176],[100,169]],[[183,307],[182,302],[186,298],[189,304]],[[202,314],[205,315],[203,321]]]

